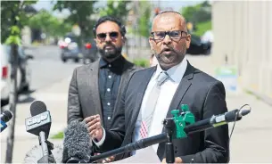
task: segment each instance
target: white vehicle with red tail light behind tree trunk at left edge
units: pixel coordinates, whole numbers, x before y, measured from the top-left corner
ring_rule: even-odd
[[[19,65],[17,70],[17,88],[18,92],[28,91],[30,86],[30,70],[29,59],[33,59],[32,55],[26,54],[22,46],[18,47]],[[9,102],[9,94],[11,90],[11,46],[0,44],[1,58],[1,106]]]

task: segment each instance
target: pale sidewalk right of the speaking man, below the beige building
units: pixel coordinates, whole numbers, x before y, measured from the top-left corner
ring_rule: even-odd
[[[214,75],[215,68],[210,56],[188,56],[188,60],[194,67]],[[244,93],[242,86],[238,90],[237,94],[227,92],[228,110],[239,109],[248,103],[251,113],[235,124],[230,140],[230,162],[272,162],[272,106],[253,94]],[[229,124],[230,132],[232,127],[233,124]]]

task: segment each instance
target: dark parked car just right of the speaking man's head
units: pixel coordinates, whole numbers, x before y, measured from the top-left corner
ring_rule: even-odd
[[[202,42],[201,37],[191,34],[191,44],[187,49],[188,54],[210,54],[211,44]]]

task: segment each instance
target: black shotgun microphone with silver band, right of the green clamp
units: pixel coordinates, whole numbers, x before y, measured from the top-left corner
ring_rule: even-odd
[[[184,128],[184,131],[187,135],[200,132],[203,130],[210,129],[212,127],[219,127],[226,125],[230,122],[235,122],[241,120],[243,116],[249,114],[251,110],[234,110],[228,111],[225,114],[221,114],[218,116],[212,116],[210,119],[203,119],[195,122],[194,124],[188,125]]]

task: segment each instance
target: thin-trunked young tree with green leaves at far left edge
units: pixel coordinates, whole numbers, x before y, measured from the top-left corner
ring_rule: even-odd
[[[13,113],[11,125],[8,128],[7,145],[5,153],[5,163],[12,163],[14,127],[16,119],[17,105],[17,68],[18,68],[18,45],[21,45],[21,29],[29,18],[30,4],[37,1],[1,1],[1,43],[11,45],[11,93],[10,111]]]

